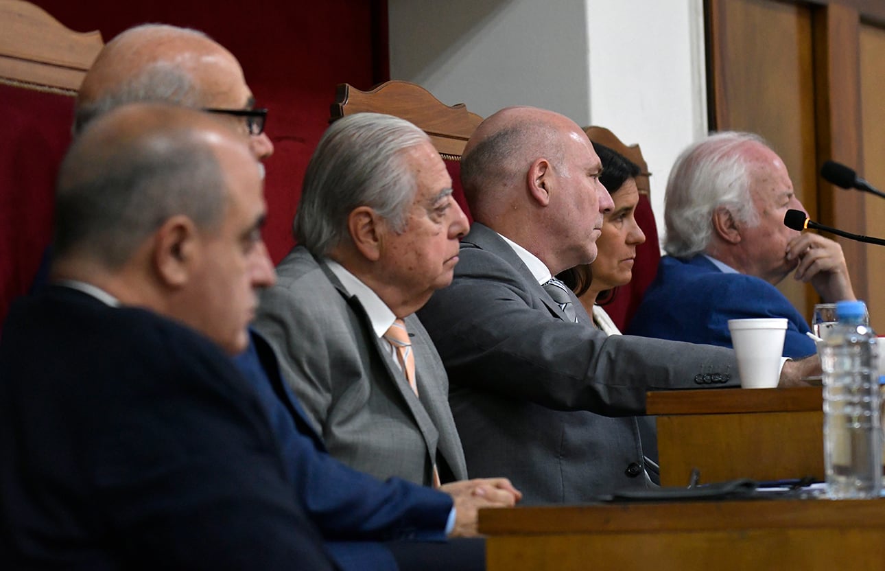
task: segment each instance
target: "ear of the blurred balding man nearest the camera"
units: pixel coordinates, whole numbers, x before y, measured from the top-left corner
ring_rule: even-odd
[[[170,287],[188,282],[200,254],[196,225],[187,216],[173,216],[154,233],[154,267],[158,279]]]

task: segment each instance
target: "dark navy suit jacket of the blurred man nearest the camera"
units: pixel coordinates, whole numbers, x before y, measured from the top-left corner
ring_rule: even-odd
[[[203,336],[57,286],[0,343],[5,568],[331,569],[249,383]]]

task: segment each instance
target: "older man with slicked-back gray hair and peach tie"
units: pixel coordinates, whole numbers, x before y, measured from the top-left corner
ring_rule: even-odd
[[[427,135],[359,113],[332,125],[304,176],[298,243],[255,327],[330,453],[380,478],[467,482],[448,379],[413,314],[451,282],[464,212]],[[496,482],[511,490],[504,481]]]

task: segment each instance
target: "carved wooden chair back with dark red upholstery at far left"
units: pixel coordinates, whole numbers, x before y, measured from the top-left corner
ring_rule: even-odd
[[[50,242],[74,96],[103,46],[98,32],[73,32],[34,4],[0,0],[0,324]]]

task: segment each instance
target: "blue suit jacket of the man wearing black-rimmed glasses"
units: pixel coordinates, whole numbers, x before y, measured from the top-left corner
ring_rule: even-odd
[[[319,526],[339,566],[396,568],[379,542],[445,541],[452,507],[447,494],[399,478],[381,482],[329,456],[281,380],[273,350],[258,334],[252,333],[249,350],[235,361],[270,414],[296,497]]]

